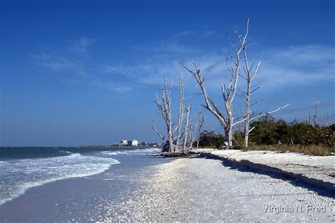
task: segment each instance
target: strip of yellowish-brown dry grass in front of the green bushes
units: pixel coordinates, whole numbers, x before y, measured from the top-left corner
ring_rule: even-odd
[[[269,150],[276,152],[299,152],[305,155],[327,156],[335,152],[335,147],[323,145],[251,145],[242,147],[242,151],[248,150]]]

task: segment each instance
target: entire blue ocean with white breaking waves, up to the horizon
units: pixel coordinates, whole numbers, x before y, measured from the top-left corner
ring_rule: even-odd
[[[100,174],[112,165],[135,160],[134,156],[158,151],[158,147],[0,147],[0,205],[30,188]]]

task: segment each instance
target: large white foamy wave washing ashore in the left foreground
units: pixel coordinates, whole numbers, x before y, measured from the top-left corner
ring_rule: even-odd
[[[110,165],[119,164],[111,157],[85,156],[78,153],[39,159],[13,159],[0,162],[0,205],[29,188],[73,177],[100,174]]]

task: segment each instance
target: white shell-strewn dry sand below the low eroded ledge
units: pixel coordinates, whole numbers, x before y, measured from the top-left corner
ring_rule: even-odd
[[[141,175],[146,186],[107,205],[103,220],[335,221],[333,198],[215,159],[175,159],[146,171],[154,173]]]

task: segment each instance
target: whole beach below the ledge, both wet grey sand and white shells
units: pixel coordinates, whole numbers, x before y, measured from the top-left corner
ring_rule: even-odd
[[[0,221],[335,220],[334,198],[218,159],[120,157],[101,174],[31,188],[0,206]]]

